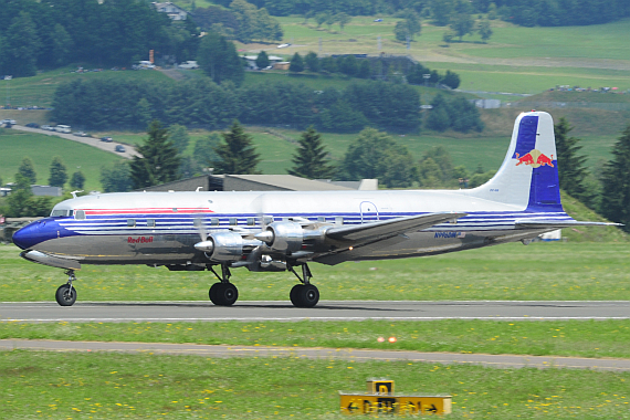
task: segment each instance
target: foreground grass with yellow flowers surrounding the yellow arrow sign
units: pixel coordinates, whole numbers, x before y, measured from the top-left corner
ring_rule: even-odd
[[[628,372],[422,363],[0,353],[6,419],[342,419],[338,390],[388,377],[453,397],[449,419],[629,418]]]

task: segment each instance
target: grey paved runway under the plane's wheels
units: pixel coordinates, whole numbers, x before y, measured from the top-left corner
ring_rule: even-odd
[[[321,301],[296,308],[284,301],[243,301],[233,306],[210,302],[54,302],[0,303],[0,322],[224,322],[224,321],[568,321],[628,319],[628,301]]]

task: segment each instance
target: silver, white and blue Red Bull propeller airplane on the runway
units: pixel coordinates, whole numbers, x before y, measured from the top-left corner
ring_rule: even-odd
[[[231,269],[292,272],[296,307],[319,301],[309,263],[434,255],[507,242],[581,222],[560,202],[554,122],[521,114],[496,175],[460,190],[118,192],[75,197],[17,231],[21,256],[64,269],[55,300],[75,303],[84,264],[210,271],[214,305],[233,305]],[[297,270],[301,269],[301,273]],[[218,271],[220,273],[218,273]]]

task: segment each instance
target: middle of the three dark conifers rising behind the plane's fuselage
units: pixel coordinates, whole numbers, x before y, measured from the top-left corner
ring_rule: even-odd
[[[260,162],[260,154],[255,151],[253,139],[243,132],[241,124],[234,119],[230,130],[221,134],[223,143],[219,144],[214,151],[214,171],[218,174],[259,174],[256,166]]]

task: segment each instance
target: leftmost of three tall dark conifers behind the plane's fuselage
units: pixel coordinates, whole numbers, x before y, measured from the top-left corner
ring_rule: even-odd
[[[179,168],[179,154],[168,138],[168,130],[158,120],[153,120],[147,130],[148,137],[136,150],[130,164],[132,181],[135,189],[175,181]]]

